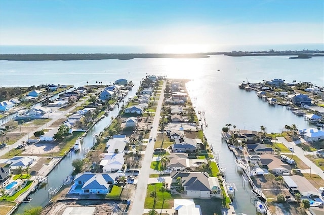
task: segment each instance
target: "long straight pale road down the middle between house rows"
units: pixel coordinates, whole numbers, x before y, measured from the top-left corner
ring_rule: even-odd
[[[151,133],[150,133],[150,136],[152,136],[152,139],[154,139],[157,134],[158,122],[159,122],[159,118],[160,118],[160,111],[161,111],[161,106],[162,106],[163,99],[164,99],[163,92],[164,92],[164,89],[166,88],[166,84],[167,84],[167,82],[165,81],[163,83],[160,98],[157,102],[155,117],[154,117],[153,124],[152,124],[153,128],[151,129]],[[130,214],[136,214],[136,215],[143,214],[147,182],[148,182],[148,178],[149,178],[149,174],[150,174],[150,166],[151,166],[151,162],[152,162],[153,151],[154,151],[154,142],[153,142],[153,140],[151,140],[151,142],[147,143],[146,152],[145,152],[145,156],[143,159],[140,175],[138,177],[137,188],[136,188],[135,197],[133,200],[133,206],[132,206]]]

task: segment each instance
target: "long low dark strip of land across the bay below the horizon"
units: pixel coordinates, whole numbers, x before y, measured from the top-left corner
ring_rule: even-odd
[[[324,57],[324,51],[277,51],[277,52],[206,52],[190,54],[172,53],[77,53],[77,54],[1,54],[0,60],[6,61],[77,61],[77,60],[132,60],[135,58],[209,58],[210,55],[225,55],[229,57],[245,56],[298,56],[305,57]],[[298,57],[296,57],[298,58]]]

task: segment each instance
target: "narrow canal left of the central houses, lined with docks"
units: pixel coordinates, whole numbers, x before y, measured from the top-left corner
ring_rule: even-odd
[[[137,86],[134,86],[132,91],[129,91],[129,94],[125,97],[125,101],[128,99],[129,96],[134,96],[136,93]],[[123,102],[119,102],[119,107]],[[110,125],[111,118],[115,118],[119,113],[119,110],[117,108],[117,105],[115,105],[115,108],[113,111],[109,112],[109,115],[100,120],[92,129],[89,131],[89,133],[84,137],[83,143],[82,143],[82,149],[80,149],[77,152],[70,151],[70,153],[65,156],[62,161],[53,169],[53,171],[48,175],[48,183],[46,186],[42,187],[41,189],[37,190],[35,193],[32,193],[29,195],[29,197],[32,197],[32,201],[28,203],[21,203],[18,209],[15,211],[15,214],[22,214],[26,209],[29,209],[31,207],[35,206],[42,206],[45,207],[49,201],[50,196],[48,194],[48,190],[50,188],[55,189],[59,188],[64,180],[71,175],[73,171],[72,167],[72,160],[77,158],[84,158],[86,155],[86,149],[91,148],[94,145],[95,141],[95,134],[100,133],[104,130],[105,127]]]

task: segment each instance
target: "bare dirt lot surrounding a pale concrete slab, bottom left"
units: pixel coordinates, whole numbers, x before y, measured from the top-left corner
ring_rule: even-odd
[[[66,200],[48,205],[42,211],[42,215],[57,215],[63,214],[68,207],[95,207],[93,214],[121,214],[126,210],[127,204],[120,203],[120,201],[110,200]]]

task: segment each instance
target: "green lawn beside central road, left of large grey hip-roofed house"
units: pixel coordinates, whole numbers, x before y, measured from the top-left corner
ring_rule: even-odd
[[[162,194],[162,192],[158,191],[160,187],[162,187],[162,183],[156,183],[156,184],[149,184],[147,186],[146,190],[146,198],[144,203],[144,208],[155,208],[155,209],[161,209],[161,208],[172,208],[174,198],[176,196],[171,196],[170,193],[165,192]],[[156,191],[156,204],[154,206],[154,199],[150,197],[150,193],[152,191]],[[165,198],[165,201],[163,203],[163,196]],[[177,196],[178,197],[178,196]]]

